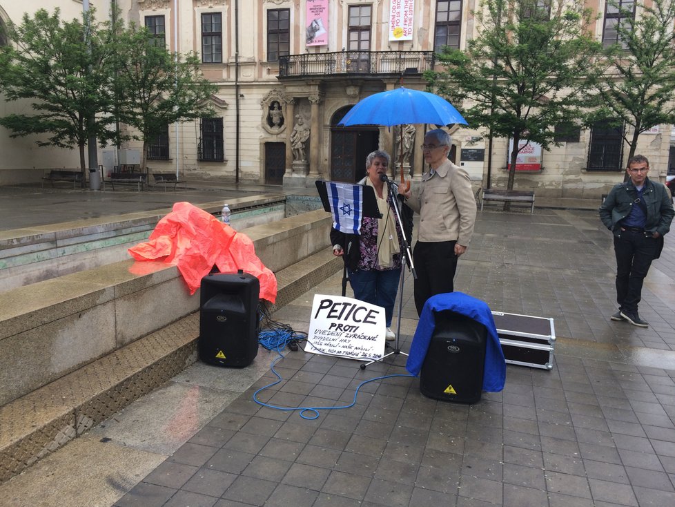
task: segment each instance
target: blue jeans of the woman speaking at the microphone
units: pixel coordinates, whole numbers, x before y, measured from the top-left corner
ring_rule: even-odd
[[[354,297],[383,307],[384,320],[387,322],[387,327],[391,326],[401,269],[388,269],[387,271],[348,269],[347,271],[349,271],[349,284],[354,291]]]

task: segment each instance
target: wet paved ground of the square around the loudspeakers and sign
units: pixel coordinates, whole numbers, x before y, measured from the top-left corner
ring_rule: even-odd
[[[252,399],[277,380],[273,352],[261,350],[245,371],[197,363],[0,486],[0,498],[10,506],[675,505],[675,234],[645,280],[640,316],[649,327],[611,321],[612,238],[595,207],[486,208],[459,262],[458,291],[500,312],[554,318],[551,371],[509,365],[502,392],[464,405],[422,396],[409,376],[356,393],[365,380],[405,374],[402,354],[362,370],[286,350],[275,365],[282,381],[261,399],[287,408],[355,400],[304,419]],[[402,352],[417,323],[412,287],[407,273]],[[314,294],[340,294],[340,274],[275,320],[306,331]]]

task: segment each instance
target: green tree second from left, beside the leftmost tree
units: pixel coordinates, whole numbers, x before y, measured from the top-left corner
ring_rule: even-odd
[[[213,115],[210,98],[217,87],[199,70],[195,53],[170,52],[145,27],[129,26],[117,37],[116,83],[119,119],[143,141],[141,170],[148,142],[167,124]]]

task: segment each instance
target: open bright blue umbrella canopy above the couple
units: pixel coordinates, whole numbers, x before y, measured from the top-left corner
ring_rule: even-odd
[[[467,125],[467,120],[446,99],[401,86],[366,97],[355,104],[338,125],[392,126],[409,123]]]

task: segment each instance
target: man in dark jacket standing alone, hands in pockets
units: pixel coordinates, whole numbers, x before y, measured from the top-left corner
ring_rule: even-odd
[[[635,155],[626,171],[629,180],[614,185],[599,210],[600,220],[614,233],[619,311],[610,318],[647,327],[638,314],[642,285],[652,260],[661,254],[675,211],[668,189],[647,178],[647,157]]]

